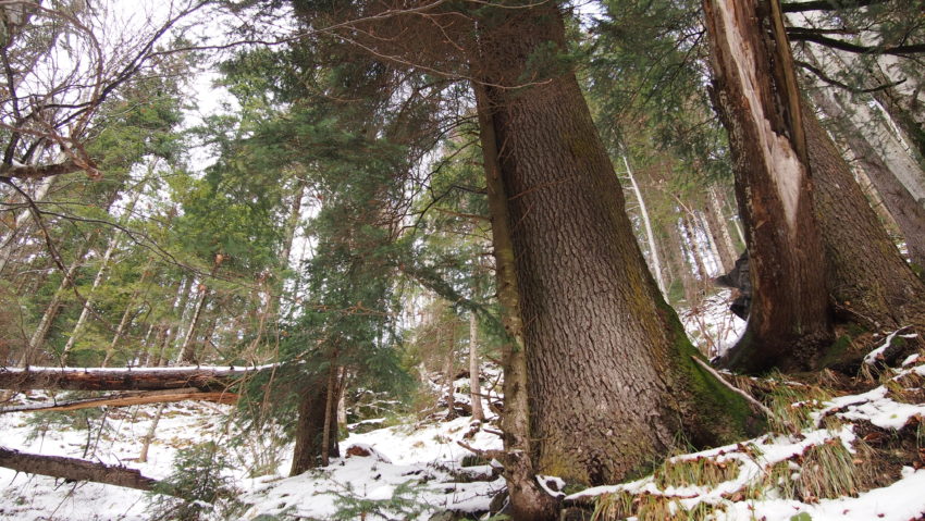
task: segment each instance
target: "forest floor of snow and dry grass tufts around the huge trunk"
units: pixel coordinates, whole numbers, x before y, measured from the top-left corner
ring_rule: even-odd
[[[686,323],[700,327],[704,336],[732,327],[717,325],[715,317],[705,314]],[[900,338],[902,334],[884,335],[879,343]],[[876,353],[869,361],[851,382],[738,379],[774,411],[775,421],[763,436],[679,454],[653,475],[620,485],[575,491],[555,477],[542,481],[553,494],[565,496],[566,505],[589,514],[596,507],[600,519],[925,519],[925,353],[913,352],[896,368],[878,368]],[[461,389],[466,382],[457,384]],[[468,395],[457,394],[456,399],[466,402]],[[166,406],[148,461],[139,463],[141,439],[156,408],[70,417],[7,413],[0,415],[0,445],[122,463],[159,480],[180,464],[187,484],[206,483],[202,480],[214,471],[221,481],[210,486],[220,483],[225,496],[214,505],[194,505],[209,512],[203,519],[452,520],[467,513],[468,519],[488,519],[491,507],[503,505],[504,480],[497,466],[457,443],[501,448],[496,419],[484,425],[468,417],[447,421],[445,408],[434,408],[423,419],[367,420],[341,442],[342,458],[324,469],[285,477],[292,447],[276,442],[279,433],[236,436],[229,421],[232,407],[201,402]],[[214,445],[202,445],[210,441]],[[207,462],[224,464],[196,467],[184,459],[195,447],[211,447]],[[165,519],[164,512],[177,506],[152,498],[128,488],[0,469],[0,519],[141,521]]]

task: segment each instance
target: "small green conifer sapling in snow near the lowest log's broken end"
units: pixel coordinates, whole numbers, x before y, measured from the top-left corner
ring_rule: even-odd
[[[240,504],[233,481],[222,475],[226,468],[226,455],[214,442],[178,450],[173,472],[152,491],[150,519],[196,521],[213,512],[230,519]]]

